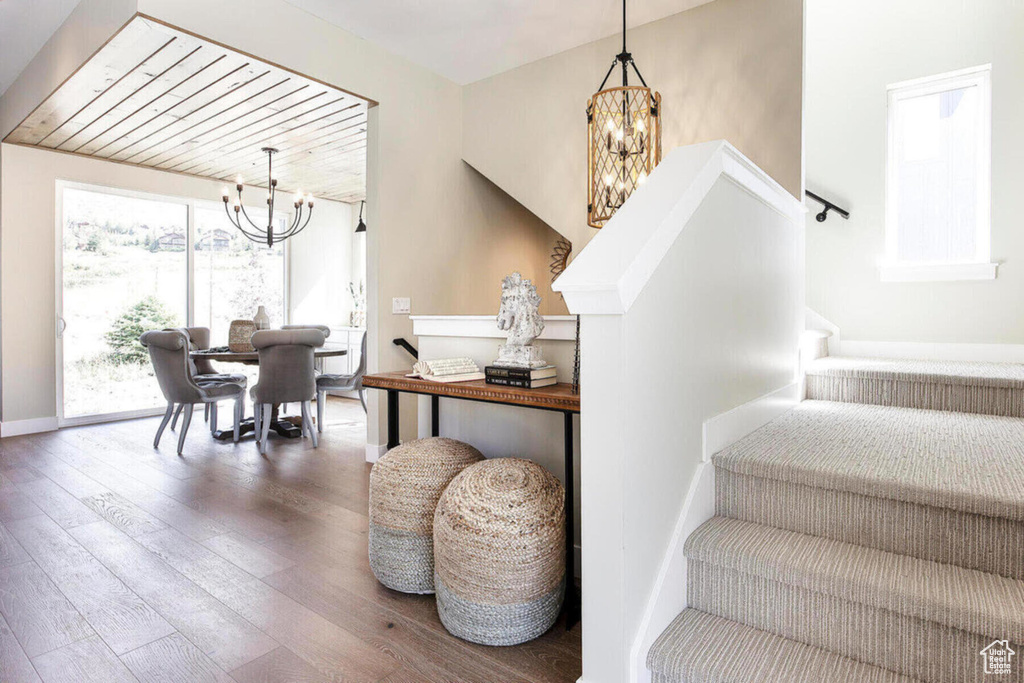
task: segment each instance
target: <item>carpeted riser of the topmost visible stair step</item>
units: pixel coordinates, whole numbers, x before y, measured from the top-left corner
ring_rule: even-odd
[[[807,376],[807,398],[1024,417],[1024,390],[906,380]]]

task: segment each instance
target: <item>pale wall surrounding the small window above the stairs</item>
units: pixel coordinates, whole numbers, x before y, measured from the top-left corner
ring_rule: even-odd
[[[807,223],[807,305],[844,340],[1024,343],[1024,5],[814,0],[807,9],[807,186],[850,209]],[[882,283],[886,86],[992,65],[994,281]]]

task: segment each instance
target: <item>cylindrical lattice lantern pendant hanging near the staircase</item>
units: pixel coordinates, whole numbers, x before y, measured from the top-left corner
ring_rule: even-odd
[[[605,89],[615,67],[622,68],[623,85]],[[642,85],[630,85],[631,67]],[[662,95],[647,86],[626,50],[626,0],[623,51],[587,103],[587,222],[602,227],[662,161]]]

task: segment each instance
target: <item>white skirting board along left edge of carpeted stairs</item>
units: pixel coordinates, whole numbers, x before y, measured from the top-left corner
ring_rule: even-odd
[[[800,394],[801,383],[794,382],[705,421],[702,461],[690,480],[630,650],[632,683],[650,681],[647,650],[688,604],[683,546],[697,526],[715,516],[715,466],[711,457],[794,408],[800,402]]]

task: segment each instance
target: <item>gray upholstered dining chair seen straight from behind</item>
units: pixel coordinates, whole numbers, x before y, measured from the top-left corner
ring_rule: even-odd
[[[316,395],[313,349],[324,345],[324,333],[308,328],[261,330],[253,335],[252,345],[259,354],[259,381],[252,388],[252,398],[260,453],[266,453],[273,407],[281,403],[302,405],[302,434],[317,447],[309,409]]]

